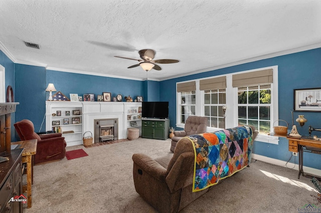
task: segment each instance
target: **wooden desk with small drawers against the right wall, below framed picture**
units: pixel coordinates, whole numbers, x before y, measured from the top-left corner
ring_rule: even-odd
[[[299,153],[299,174],[297,178],[300,178],[300,174],[304,176],[303,173],[303,147],[310,146],[312,148],[321,148],[321,141],[314,140],[309,137],[291,137],[287,136],[286,139],[289,140],[289,151],[298,152]],[[320,150],[321,151],[321,150]],[[312,150],[312,152],[316,153],[318,151]]]

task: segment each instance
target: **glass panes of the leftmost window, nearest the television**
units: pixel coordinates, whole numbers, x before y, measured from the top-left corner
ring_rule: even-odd
[[[195,115],[195,91],[180,92],[180,123],[185,123],[189,115]]]

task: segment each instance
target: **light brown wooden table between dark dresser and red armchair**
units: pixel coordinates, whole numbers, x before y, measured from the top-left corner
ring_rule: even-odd
[[[27,199],[28,208],[32,206],[32,193],[31,184],[33,182],[33,159],[32,156],[37,152],[37,139],[32,140],[22,140],[17,142],[12,142],[14,144],[20,144],[20,148],[24,148],[22,152],[22,162],[27,163]],[[23,186],[23,192],[26,191],[26,185]]]

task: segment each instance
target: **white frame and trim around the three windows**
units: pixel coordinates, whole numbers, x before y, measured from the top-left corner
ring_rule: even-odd
[[[225,117],[225,128],[232,128],[238,125],[238,88],[232,87],[232,76],[233,74],[240,74],[245,72],[252,72],[252,71],[260,71],[264,69],[273,69],[273,83],[271,83],[271,117],[270,117],[270,129],[273,129],[273,122],[278,119],[278,66],[268,66],[268,67],[262,67],[257,69],[250,69],[245,71],[239,71],[234,73],[228,73],[223,75],[216,75],[216,77],[220,76],[226,76],[226,117]],[[195,106],[195,115],[197,116],[204,116],[204,91],[200,90],[200,80],[201,79],[207,79],[207,78],[213,78],[213,76],[206,77],[206,78],[199,78],[199,79],[193,79],[189,81],[196,81],[196,106]],[[184,82],[189,82],[184,81]],[[182,83],[182,82],[177,82]],[[176,118],[176,126],[184,128],[185,123],[179,123],[180,121],[180,107],[179,107],[179,101],[181,100],[180,92],[176,92],[177,94],[177,118]],[[229,98],[231,97],[231,98]],[[275,124],[277,125],[277,123]],[[214,128],[214,127],[207,127],[208,132],[213,132],[216,130],[219,130],[220,128]],[[272,135],[261,135],[259,134],[256,139],[257,141],[261,142],[267,142],[267,143],[273,143],[278,144],[278,137],[272,136]]]

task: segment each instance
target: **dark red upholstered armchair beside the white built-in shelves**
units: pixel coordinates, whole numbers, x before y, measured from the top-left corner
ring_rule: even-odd
[[[61,133],[38,135],[31,120],[23,119],[14,124],[21,140],[38,139],[34,163],[62,159],[66,154],[66,141]]]

